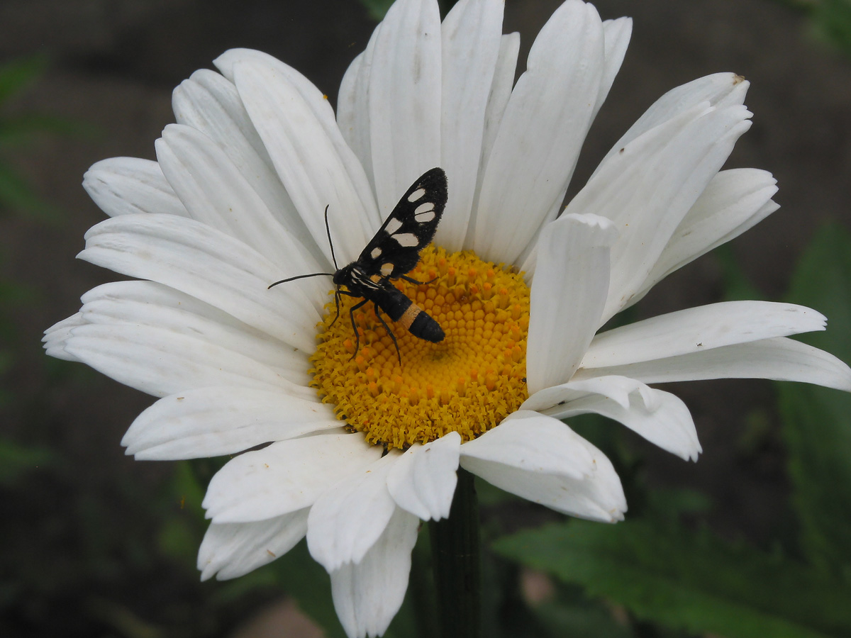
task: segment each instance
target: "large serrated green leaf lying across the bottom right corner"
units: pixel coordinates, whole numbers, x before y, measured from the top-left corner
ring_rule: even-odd
[[[851,631],[851,588],[709,533],[574,520],[501,538],[494,550],[675,629],[727,638]]]

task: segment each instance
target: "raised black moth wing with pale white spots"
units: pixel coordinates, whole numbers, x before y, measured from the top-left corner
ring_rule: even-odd
[[[357,259],[365,271],[395,279],[420,261],[420,250],[434,238],[446,208],[446,174],[432,168],[399,200]]]

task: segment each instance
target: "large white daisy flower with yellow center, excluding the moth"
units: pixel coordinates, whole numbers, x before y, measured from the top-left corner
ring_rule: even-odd
[[[597,333],[777,208],[770,174],[721,170],[750,126],[748,83],[719,73],[665,94],[562,210],[631,20],[568,0],[514,83],[519,37],[501,33],[502,10],[461,0],[441,23],[434,0],[398,0],[346,72],[336,118],[298,71],[257,51],[192,74],[174,90],[157,162],[118,157],[85,176],[111,219],[79,256],[137,279],[85,293],[44,339],[49,355],[160,397],[124,437],[138,459],[267,444],[210,482],[203,578],[249,572],[306,536],[350,636],[390,623],[420,520],[448,516],[459,466],[553,510],[618,521],[612,464],[560,419],[603,414],[694,460],[688,408],[648,384],[851,390],[844,363],[788,339],[825,328],[802,306],[720,303]],[[343,297],[334,322],[327,277],[267,289],[333,271],[326,207],[343,265],[433,167],[449,195],[437,248],[410,273],[427,283],[402,283],[442,342],[397,327],[400,363],[364,307],[355,352],[358,299]]]

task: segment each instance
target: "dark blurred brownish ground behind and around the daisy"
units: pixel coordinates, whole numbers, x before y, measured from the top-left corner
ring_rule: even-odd
[[[504,31],[522,34],[521,71],[558,4],[507,0]],[[784,3],[595,4],[604,19],[632,16],[633,36],[572,192],[661,94],[717,71],[752,83],[746,104],[753,126],[728,168],[764,168],[780,185],[777,213],[720,257],[699,259],[662,282],[636,316],[723,299],[730,263],[764,299],[784,298],[820,223],[851,226],[848,56],[814,35],[805,12]],[[0,146],[0,160],[43,202],[37,213],[6,207],[0,215],[0,440],[5,458],[17,459],[0,472],[0,635],[261,635],[246,628],[278,597],[262,577],[197,583],[198,510],[215,465],[126,458],[119,441],[151,397],[82,365],[49,360],[39,339],[78,310],[82,293],[115,277],[74,259],[83,233],[104,219],[80,185],[89,165],[115,156],[154,159],[154,140],[174,121],[172,89],[197,68],[212,68],[227,48],[275,55],[334,103],[374,24],[355,0],[0,1],[0,63],[45,56],[43,73],[0,117],[38,113],[67,123],[25,145]],[[788,481],[772,385],[724,380],[669,389],[691,408],[704,454],[687,464],[626,436],[648,483],[710,494],[718,506],[706,520],[725,538],[757,545],[782,538],[790,524]],[[287,624],[303,622],[291,611],[272,624],[277,633],[263,635],[315,635]]]

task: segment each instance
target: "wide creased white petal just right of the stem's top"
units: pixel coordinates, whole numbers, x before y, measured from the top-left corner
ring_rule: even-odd
[[[606,456],[542,414],[511,414],[464,443],[460,463],[506,492],[571,516],[614,522],[626,511],[620,479]]]

